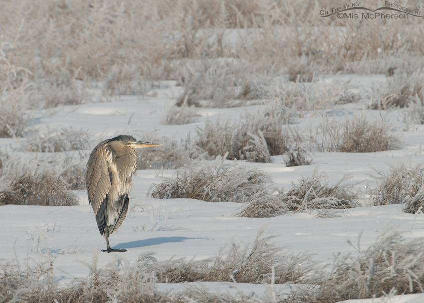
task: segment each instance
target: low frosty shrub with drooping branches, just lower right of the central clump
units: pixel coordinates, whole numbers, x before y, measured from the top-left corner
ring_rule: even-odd
[[[238,216],[268,218],[292,211],[351,208],[355,205],[357,194],[353,192],[354,184],[341,184],[347,178],[329,187],[325,175],[318,175],[315,171],[312,177],[300,179],[297,185],[293,183],[293,188],[287,193],[273,190],[255,195]]]

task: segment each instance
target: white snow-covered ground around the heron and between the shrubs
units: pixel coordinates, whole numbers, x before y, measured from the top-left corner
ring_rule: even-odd
[[[372,85],[384,81],[384,76],[346,76],[337,81],[350,81],[367,90]],[[330,79],[331,80],[331,79]],[[325,79],[325,81],[330,81]],[[323,83],[325,82],[323,81]],[[375,82],[373,82],[375,81]],[[158,89],[154,97],[121,96],[112,102],[90,103],[77,106],[32,111],[31,128],[40,130],[54,127],[71,126],[76,129],[88,129],[96,142],[118,134],[131,134],[142,138],[143,131],[155,131],[159,136],[173,136],[176,139],[196,135],[196,127],[204,127],[206,116],[214,121],[228,117],[238,119],[245,111],[255,112],[259,106],[229,109],[198,109],[201,117],[197,123],[186,125],[161,125],[166,106],[172,105],[179,87],[172,81],[169,87]],[[339,105],[331,110],[322,110],[311,116],[304,113],[298,118],[297,125],[304,127],[315,125],[325,113],[344,119],[347,115],[361,115],[364,104]],[[129,123],[131,115],[134,116]],[[312,176],[318,166],[319,172],[325,172],[329,185],[336,184],[346,174],[351,174],[347,183],[358,183],[357,188],[365,193],[368,186],[375,186],[375,180],[369,174],[376,175],[373,168],[386,172],[389,165],[399,161],[411,165],[424,161],[421,145],[424,142],[424,126],[413,125],[406,129],[402,110],[389,112],[368,111],[367,116],[385,115],[392,123],[392,130],[399,136],[402,149],[377,153],[315,153],[312,165],[286,167],[282,156],[272,157],[272,163],[240,162],[249,168],[258,168],[272,177],[273,186],[285,190],[291,183],[297,184],[303,177]],[[406,130],[405,130],[406,129]],[[19,139],[0,139],[0,148],[19,146]],[[89,151],[87,151],[89,152]],[[231,161],[228,161],[228,163]],[[231,241],[248,245],[253,243],[260,228],[265,227],[266,236],[275,236],[273,242],[277,247],[285,247],[293,254],[310,252],[314,260],[322,265],[333,260],[333,254],[356,254],[357,251],[347,242],[357,243],[361,232],[361,248],[369,247],[380,233],[388,226],[399,226],[405,231],[404,237],[413,239],[424,236],[424,217],[422,214],[402,213],[401,205],[370,207],[368,196],[360,195],[361,207],[333,211],[334,218],[314,218],[316,213],[299,212],[274,218],[240,218],[234,216],[243,207],[240,203],[210,203],[193,199],[159,200],[147,196],[153,183],[160,183],[163,177],[172,177],[173,170],[139,170],[133,177],[133,189],[130,195],[130,209],[122,226],[110,237],[111,247],[127,249],[126,253],[99,252],[98,266],[108,264],[114,258],[124,257],[130,263],[137,262],[140,254],[155,252],[158,261],[170,258],[202,260],[218,253]],[[21,264],[37,262],[43,257],[37,253],[37,246],[49,250],[54,256],[54,279],[60,285],[70,283],[74,278],[86,277],[89,268],[79,261],[88,262],[98,249],[106,248],[104,238],[100,235],[93,210],[88,205],[85,191],[75,192],[80,198],[79,206],[41,207],[6,205],[0,207],[0,259],[17,259]],[[158,290],[172,292],[184,289],[190,284],[157,284]],[[200,284],[196,284],[200,285]],[[254,292],[261,296],[264,285],[233,285],[231,283],[203,283],[212,292],[241,291],[244,294]],[[288,293],[289,286],[275,286],[277,292]],[[232,293],[231,293],[232,294]],[[345,302],[361,303],[418,303],[424,302],[424,295],[393,296],[391,298],[351,300]]]

